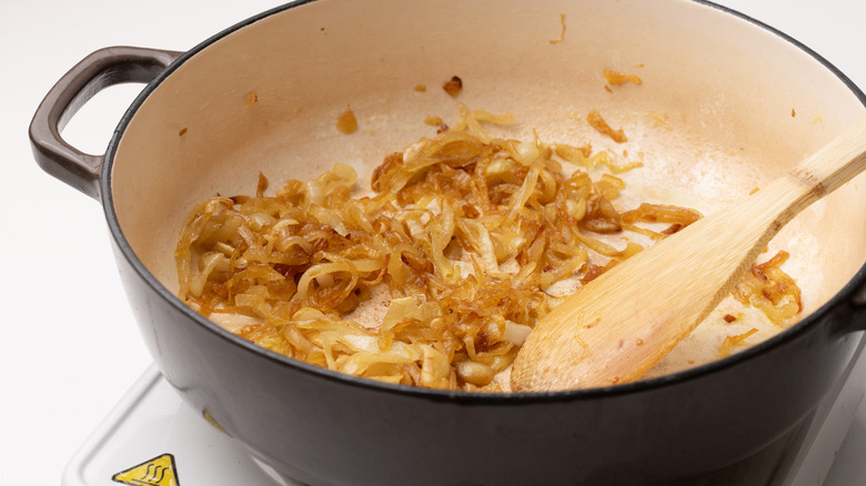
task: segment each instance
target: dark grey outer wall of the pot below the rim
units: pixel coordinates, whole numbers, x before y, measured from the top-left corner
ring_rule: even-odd
[[[733,366],[657,386],[436,394],[293,365],[179,312],[118,251],[139,325],[183,399],[311,485],[676,484],[757,453],[804,418],[855,352],[824,317]]]

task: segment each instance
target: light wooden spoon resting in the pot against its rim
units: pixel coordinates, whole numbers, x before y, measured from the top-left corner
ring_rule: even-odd
[[[611,269],[542,318],[514,361],[512,389],[640,378],[728,295],[803,209],[866,169],[866,119],[748,199]]]

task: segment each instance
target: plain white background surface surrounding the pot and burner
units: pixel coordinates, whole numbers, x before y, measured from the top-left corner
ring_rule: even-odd
[[[58,484],[151,360],[118,279],[100,205],[44,174],[27,129],[75,62],[103,47],[187,50],[279,0],[0,1],[0,484]],[[798,39],[866,88],[866,2],[722,0]],[[140,85],[107,91],[67,130],[102,153]],[[866,484],[866,406],[825,483]]]

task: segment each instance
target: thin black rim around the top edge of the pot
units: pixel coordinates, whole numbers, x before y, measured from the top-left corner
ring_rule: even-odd
[[[727,357],[715,360],[709,363],[698,365],[688,369],[671,373],[667,375],[653,377],[653,378],[646,378],[641,379],[637,382],[632,383],[625,383],[620,385],[611,385],[605,387],[597,387],[597,388],[586,388],[586,389],[570,389],[570,391],[560,391],[560,392],[508,392],[508,393],[501,393],[501,392],[463,392],[463,391],[444,391],[444,389],[431,389],[431,388],[421,388],[415,386],[409,386],[409,385],[393,385],[387,383],[377,382],[374,379],[367,379],[362,378],[358,376],[346,375],[340,372],[331,371],[328,368],[322,368],[299,360],[291,358],[289,356],[272,352],[270,350],[266,350],[264,347],[261,347],[254,343],[251,343],[246,340],[243,340],[242,337],[220,327],[218,324],[211,322],[210,320],[205,318],[191,307],[189,307],[187,304],[184,304],[177,295],[174,295],[172,292],[170,292],[165,286],[163,286],[153,274],[150,273],[150,271],[144,266],[144,264],[139,260],[139,257],[133,252],[131,245],[127,241],[123,231],[120,227],[120,223],[118,222],[118,215],[114,211],[113,205],[113,198],[112,198],[112,190],[111,190],[111,182],[112,182],[112,166],[114,162],[114,156],[117,154],[118,146],[120,144],[120,141],[123,136],[123,133],[125,132],[130,121],[134,117],[134,114],[138,112],[139,108],[142,105],[142,103],[148,99],[148,97],[155,90],[158,85],[160,85],[168,77],[170,77],[180,65],[182,65],[187,60],[198,54],[200,51],[204,50],[209,45],[213,44],[218,40],[221,40],[229,34],[241,30],[248,26],[251,26],[264,18],[271,17],[275,13],[280,13],[282,11],[300,7],[306,3],[311,3],[313,1],[318,0],[298,0],[295,2],[285,3],[280,7],[275,7],[270,10],[265,10],[256,16],[253,16],[246,20],[243,20],[239,23],[235,23],[234,26],[231,26],[221,32],[218,32],[216,34],[210,37],[209,39],[204,40],[203,42],[199,43],[198,45],[193,47],[189,51],[182,53],[180,57],[178,57],[174,62],[172,62],[165,70],[163,70],[153,81],[151,81],[142,91],[141,93],[135,98],[135,100],[132,102],[132,104],[129,107],[129,109],[125,111],[123,117],[121,118],[117,129],[114,130],[114,133],[111,138],[111,141],[109,142],[108,149],[105,151],[105,158],[104,163],[102,165],[102,174],[100,178],[100,184],[101,184],[101,194],[102,194],[102,206],[103,211],[105,213],[105,219],[108,221],[108,225],[111,232],[112,237],[114,239],[115,244],[118,245],[118,249],[123,254],[123,257],[127,259],[127,261],[130,263],[132,269],[139,274],[139,276],[147,282],[147,284],[152,287],[157,294],[167,301],[173,308],[177,308],[179,312],[184,314],[187,317],[194,321],[197,324],[205,327],[207,330],[213,332],[218,336],[231,342],[232,344],[236,345],[241,350],[245,352],[251,352],[258,355],[261,355],[262,357],[276,362],[280,365],[283,366],[290,366],[294,367],[298,371],[305,372],[312,375],[315,375],[320,378],[334,381],[339,383],[343,383],[345,385],[351,386],[358,386],[362,388],[366,388],[369,391],[374,392],[381,392],[381,393],[397,393],[404,396],[412,396],[416,398],[424,398],[430,401],[454,401],[459,403],[473,403],[473,404],[483,404],[483,405],[493,405],[493,404],[515,404],[520,402],[572,402],[572,401],[581,401],[581,399],[592,399],[598,396],[617,396],[617,395],[625,395],[625,394],[632,394],[632,393],[641,393],[641,392],[650,392],[655,391],[658,388],[663,388],[666,386],[673,386],[677,384],[682,384],[685,382],[689,382],[692,379],[697,379],[703,376],[717,373],[722,369],[736,366],[738,364],[743,364],[749,360],[753,360],[757,357],[758,355],[769,352],[771,350],[784,345],[786,342],[792,341],[796,338],[796,336],[802,335],[803,333],[807,332],[813,326],[817,325],[818,322],[827,314],[830,313],[830,311],[838,306],[843,305],[845,302],[853,298],[853,296],[858,292],[858,290],[862,286],[866,286],[866,262],[860,266],[860,269],[857,271],[857,273],[852,277],[850,281],[832,298],[829,298],[827,302],[825,302],[822,306],[819,306],[817,310],[815,310],[812,314],[807,315],[796,324],[792,325],[787,330],[782,331],[781,333],[776,334],[775,336],[763,341],[761,343],[757,343],[753,346],[749,346],[743,351],[739,351],[737,353],[734,353]],[[812,57],[814,60],[818,61],[824,68],[826,68],[830,73],[833,73],[836,78],[838,78],[859,100],[859,102],[866,107],[866,94],[849,79],[847,78],[839,69],[837,69],[835,65],[833,65],[829,61],[827,61],[825,58],[823,58],[817,52],[813,51],[802,42],[797,41],[796,39],[792,38],[791,36],[759,21],[752,17],[748,17],[744,13],[741,13],[736,10],[733,10],[731,8],[719,6],[716,3],[713,3],[707,0],[679,0],[688,3],[698,3],[703,4],[713,9],[716,9],[725,14],[731,14],[734,17],[737,17],[742,20],[745,20],[746,22],[749,22],[754,24],[755,27],[759,29],[764,29],[781,39],[787,41],[788,43],[793,44],[793,47],[804,51],[806,54]]]

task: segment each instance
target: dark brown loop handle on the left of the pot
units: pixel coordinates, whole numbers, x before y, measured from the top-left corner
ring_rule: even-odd
[[[124,82],[149,83],[181,52],[133,47],[100,49],[67,72],[37,108],[30,122],[30,144],[37,163],[49,174],[84,194],[100,199],[105,155],[70,145],[60,132],[78,110],[103,89]]]

